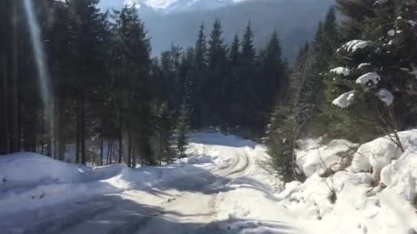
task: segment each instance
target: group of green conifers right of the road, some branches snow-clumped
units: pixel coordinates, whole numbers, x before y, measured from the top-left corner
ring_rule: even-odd
[[[318,24],[264,138],[286,181],[304,177],[294,154],[300,138],[364,143],[416,125],[416,8],[409,0],[337,0]]]

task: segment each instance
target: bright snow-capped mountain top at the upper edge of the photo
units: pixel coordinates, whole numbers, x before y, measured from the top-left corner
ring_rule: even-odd
[[[102,8],[118,8],[121,5],[146,6],[158,12],[174,13],[194,10],[213,10],[250,0],[102,0]]]

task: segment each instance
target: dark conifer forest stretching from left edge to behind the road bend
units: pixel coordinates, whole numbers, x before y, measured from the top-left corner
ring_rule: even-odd
[[[137,9],[98,2],[1,1],[0,154],[134,167],[183,157],[191,128],[263,131],[289,84],[276,32],[256,51],[250,23],[228,45],[216,20],[152,59]]]

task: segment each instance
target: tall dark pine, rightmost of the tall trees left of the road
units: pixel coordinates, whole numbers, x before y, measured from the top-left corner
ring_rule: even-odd
[[[153,132],[150,40],[136,8],[123,8],[121,12],[115,12],[114,18],[112,66],[115,69],[112,73],[115,74],[115,83],[119,88],[119,162],[123,155],[122,149],[126,148],[128,166],[136,163],[133,152],[143,155],[144,164],[155,164],[150,145]],[[122,144],[123,133],[128,137],[125,147]]]

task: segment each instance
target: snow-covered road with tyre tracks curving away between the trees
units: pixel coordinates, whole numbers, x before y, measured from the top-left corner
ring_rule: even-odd
[[[139,169],[164,178],[145,189],[135,182],[121,192],[71,198],[14,213],[0,226],[6,233],[300,233],[284,214],[282,222],[272,222],[256,212],[259,208],[265,213],[265,200],[267,206],[276,203],[274,179],[259,173],[256,146],[235,136],[194,133],[191,157],[178,162],[187,166],[171,174]],[[123,187],[122,179],[112,177],[106,183]],[[277,220],[279,213],[271,217]]]

